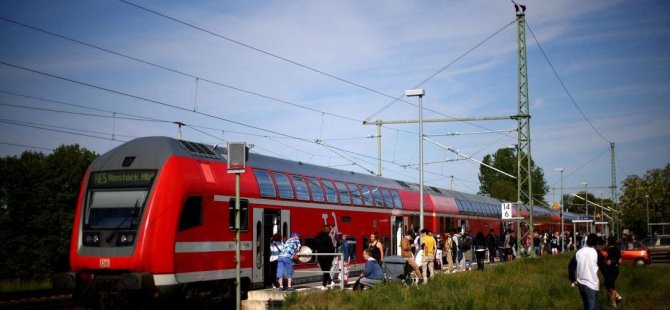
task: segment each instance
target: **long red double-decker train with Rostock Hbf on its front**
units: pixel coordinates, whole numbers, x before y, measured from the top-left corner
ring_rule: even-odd
[[[354,265],[362,266],[370,234],[378,232],[393,255],[405,232],[419,227],[417,184],[259,154],[249,154],[240,197],[243,291],[273,280],[273,234],[297,231],[308,245],[324,224],[336,225],[350,241]],[[500,220],[500,204],[427,186],[424,226],[499,234],[509,225]],[[223,148],[167,137],[116,147],[91,164],[82,182],[70,249],[79,291],[92,299],[109,291],[153,298],[233,294],[234,205],[235,175]],[[541,225],[558,222],[546,209],[536,218]],[[298,272],[296,282],[307,277]]]

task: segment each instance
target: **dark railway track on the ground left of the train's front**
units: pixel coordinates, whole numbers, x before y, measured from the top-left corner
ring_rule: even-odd
[[[0,294],[0,309],[84,309],[72,291],[38,290]]]

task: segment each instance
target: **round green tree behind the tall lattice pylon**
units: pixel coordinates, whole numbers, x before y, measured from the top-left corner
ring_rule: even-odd
[[[495,154],[487,154],[484,156],[482,162],[513,176],[517,175],[517,156],[514,149],[498,149]],[[548,187],[547,182],[544,180],[544,172],[542,168],[535,166],[535,162],[532,159],[531,181],[533,186],[533,197],[536,197],[534,203],[537,204],[538,201],[540,201],[542,204],[546,204],[544,196],[547,194]],[[519,200],[517,197],[517,180],[484,165],[479,166],[479,183],[480,195],[489,195],[507,201]],[[522,191],[527,192],[528,188],[523,188]],[[524,201],[524,203],[527,202]]]

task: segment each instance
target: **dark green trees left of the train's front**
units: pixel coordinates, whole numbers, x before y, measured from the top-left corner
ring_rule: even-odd
[[[0,159],[0,278],[44,278],[69,268],[81,181],[97,155],[79,145]]]

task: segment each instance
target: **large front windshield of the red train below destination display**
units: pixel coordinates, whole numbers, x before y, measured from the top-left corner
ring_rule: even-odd
[[[91,229],[135,228],[148,194],[148,189],[91,191],[84,225]]]

